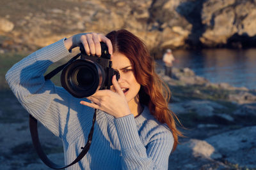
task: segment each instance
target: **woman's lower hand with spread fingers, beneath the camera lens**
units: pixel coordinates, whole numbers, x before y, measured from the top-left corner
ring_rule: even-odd
[[[92,96],[87,97],[87,99],[92,101],[92,103],[81,101],[81,104],[105,111],[109,115],[113,115],[115,118],[131,114],[124,92],[120,88],[116,80],[116,76],[113,76],[112,83],[116,92],[111,90],[99,90]]]

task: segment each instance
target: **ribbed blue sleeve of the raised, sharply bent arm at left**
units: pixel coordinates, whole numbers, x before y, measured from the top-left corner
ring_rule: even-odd
[[[31,53],[6,73],[6,81],[22,106],[60,138],[65,128],[72,127],[72,115],[76,114],[74,110],[82,108],[78,99],[70,96],[62,87],[44,80],[47,67],[70,55],[63,41],[61,39]],[[65,133],[67,135],[67,131]]]

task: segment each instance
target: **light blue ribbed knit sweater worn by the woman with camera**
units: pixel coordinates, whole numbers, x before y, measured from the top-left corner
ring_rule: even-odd
[[[22,106],[61,138],[65,164],[70,164],[87,141],[94,110],[44,80],[47,67],[70,55],[63,42],[22,59],[6,73],[6,80]],[[115,118],[99,110],[90,150],[67,169],[168,169],[172,146],[172,132],[150,115],[147,106],[136,118]]]

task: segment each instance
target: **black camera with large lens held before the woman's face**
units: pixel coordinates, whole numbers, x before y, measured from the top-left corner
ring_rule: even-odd
[[[86,55],[80,46],[81,59],[74,60],[64,67],[61,73],[61,85],[72,96],[83,98],[92,96],[97,90],[110,89],[112,77],[120,78],[117,70],[112,68],[108,46],[100,43],[100,57]]]

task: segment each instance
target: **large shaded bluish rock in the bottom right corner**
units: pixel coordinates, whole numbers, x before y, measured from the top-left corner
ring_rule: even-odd
[[[241,167],[256,168],[256,126],[244,127],[205,139],[223,159]]]

